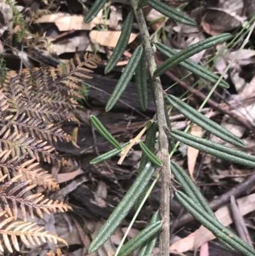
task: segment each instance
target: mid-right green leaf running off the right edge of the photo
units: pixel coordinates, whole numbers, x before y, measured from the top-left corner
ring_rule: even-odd
[[[237,149],[231,149],[230,147],[222,146],[215,142],[201,139],[194,135],[177,130],[171,130],[171,136],[188,146],[194,147],[205,153],[212,154],[213,156],[217,156],[240,165],[245,165],[247,167],[255,167],[255,156]]]

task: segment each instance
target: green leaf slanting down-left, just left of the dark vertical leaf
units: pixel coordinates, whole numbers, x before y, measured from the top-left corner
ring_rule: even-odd
[[[117,82],[117,85],[115,86],[115,89],[110,96],[110,99],[108,100],[105,110],[106,112],[110,111],[114,105],[119,100],[121,94],[125,91],[126,87],[128,87],[128,83],[132,79],[136,66],[138,65],[138,62],[140,61],[143,54],[143,47],[142,45],[139,45],[135,51],[132,54],[132,57],[130,58],[126,68],[124,69],[124,72],[122,73],[119,81]]]

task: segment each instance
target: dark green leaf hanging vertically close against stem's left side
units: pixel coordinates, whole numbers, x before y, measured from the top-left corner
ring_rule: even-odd
[[[148,105],[147,68],[145,51],[143,51],[142,57],[135,70],[135,84],[140,107],[142,108],[143,111],[145,111]]]

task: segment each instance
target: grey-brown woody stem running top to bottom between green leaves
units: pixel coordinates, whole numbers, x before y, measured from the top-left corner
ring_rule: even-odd
[[[166,116],[164,114],[164,96],[161,81],[159,77],[154,77],[153,73],[157,68],[156,61],[154,59],[154,52],[150,45],[150,36],[147,30],[147,25],[143,15],[143,11],[137,8],[138,0],[131,0],[136,20],[140,29],[142,43],[145,50],[145,56],[147,64],[149,66],[150,76],[154,81],[154,92],[155,92],[155,105],[156,105],[156,116],[157,126],[159,128],[159,157],[163,163],[161,169],[161,202],[160,202],[160,213],[163,227],[159,236],[159,250],[161,256],[169,255],[170,248],[170,158],[168,155],[168,137],[164,132],[164,128],[167,127]]]

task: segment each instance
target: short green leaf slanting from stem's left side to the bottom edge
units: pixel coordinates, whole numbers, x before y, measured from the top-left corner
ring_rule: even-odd
[[[120,249],[119,256],[128,256],[131,252],[134,252],[139,246],[143,245],[150,237],[154,236],[162,227],[162,222],[159,220],[155,222],[141,232],[139,232],[136,236],[134,236],[131,240],[128,241],[122,248]]]

